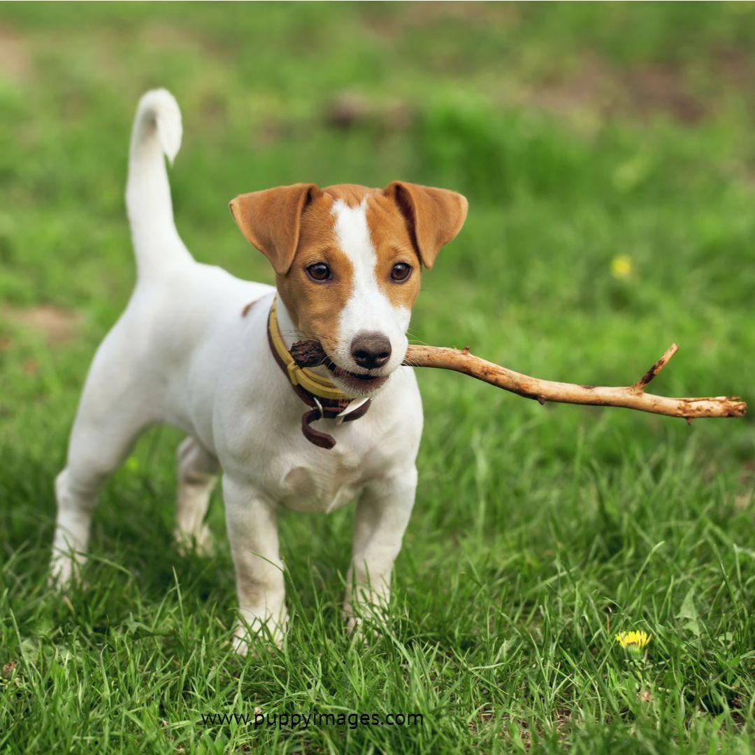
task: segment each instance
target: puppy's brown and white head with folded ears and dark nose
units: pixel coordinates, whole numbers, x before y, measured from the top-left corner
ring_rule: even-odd
[[[322,344],[350,396],[380,388],[404,360],[421,267],[461,230],[461,194],[394,181],[384,190],[296,183],[230,203],[246,239],[276,271],[304,337]]]

